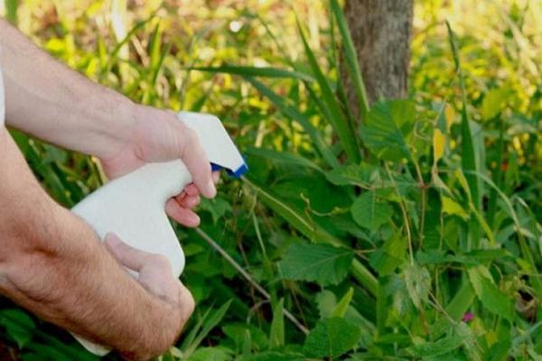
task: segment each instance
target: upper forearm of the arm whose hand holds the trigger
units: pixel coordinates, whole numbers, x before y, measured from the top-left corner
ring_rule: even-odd
[[[0,19],[6,122],[25,133],[107,158],[135,125],[128,98],[102,87],[36,47]]]

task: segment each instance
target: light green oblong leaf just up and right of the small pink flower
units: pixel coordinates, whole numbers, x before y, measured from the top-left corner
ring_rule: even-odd
[[[509,297],[499,290],[488,269],[483,265],[477,265],[469,268],[467,272],[481,304],[492,313],[511,320],[513,304]]]

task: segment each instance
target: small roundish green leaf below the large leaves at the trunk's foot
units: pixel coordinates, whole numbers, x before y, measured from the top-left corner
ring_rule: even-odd
[[[376,231],[389,221],[393,209],[388,203],[378,200],[375,191],[363,193],[350,208],[352,217],[361,226]]]

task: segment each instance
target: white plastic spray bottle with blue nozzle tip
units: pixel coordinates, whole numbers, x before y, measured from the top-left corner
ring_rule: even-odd
[[[179,113],[178,118],[199,135],[213,170],[225,168],[236,177],[248,170],[219,118],[188,112]],[[85,219],[102,240],[107,233],[114,232],[128,245],[166,256],[173,275],[178,277],[184,268],[184,254],[164,207],[167,199],[180,194],[191,182],[192,176],[181,160],[147,163],[108,182],[71,210]],[[98,356],[109,352],[105,347],[74,337]]]

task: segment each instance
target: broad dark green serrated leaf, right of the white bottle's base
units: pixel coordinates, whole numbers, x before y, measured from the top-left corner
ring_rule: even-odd
[[[285,279],[318,282],[326,286],[338,284],[346,278],[353,256],[346,248],[294,243],[286,250],[279,267]]]

